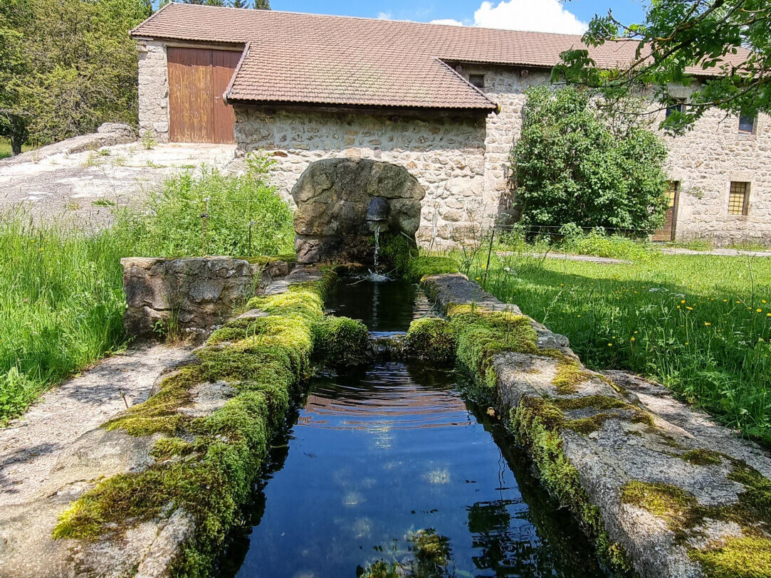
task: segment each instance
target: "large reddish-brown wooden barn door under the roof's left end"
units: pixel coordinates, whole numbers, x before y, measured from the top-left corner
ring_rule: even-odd
[[[241,52],[170,46],[169,139],[234,143],[233,109],[222,101]]]

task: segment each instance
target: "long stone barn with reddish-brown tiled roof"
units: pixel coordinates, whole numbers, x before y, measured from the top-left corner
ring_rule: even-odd
[[[164,6],[132,35],[140,131],[263,150],[287,198],[317,160],[404,166],[426,190],[418,238],[433,247],[509,208],[524,90],[581,46],[574,35],[187,4]],[[618,42],[591,55],[611,67],[634,50]],[[685,89],[671,92],[687,102]],[[769,117],[713,111],[666,139],[672,210],[655,238],[771,244]]]

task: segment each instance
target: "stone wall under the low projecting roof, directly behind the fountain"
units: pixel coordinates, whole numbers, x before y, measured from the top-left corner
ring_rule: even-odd
[[[238,152],[264,150],[276,161],[271,180],[284,198],[310,163],[333,157],[404,166],[426,190],[417,238],[446,247],[468,227],[495,214],[497,197],[484,190],[485,120],[364,114],[272,114],[236,107]]]

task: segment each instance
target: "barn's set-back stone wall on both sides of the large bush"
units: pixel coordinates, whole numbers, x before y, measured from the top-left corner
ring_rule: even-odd
[[[485,194],[510,205],[508,156],[522,127],[524,91],[549,82],[547,72],[497,67],[464,68],[463,74],[484,74],[484,92],[500,106],[487,118]],[[675,90],[675,92],[677,92]],[[688,90],[682,89],[688,96]],[[663,119],[660,113],[656,124]],[[682,136],[666,136],[666,170],[681,181],[676,238],[703,237],[717,244],[752,241],[771,244],[771,117],[760,115],[752,135],[739,134],[739,119],[712,110]],[[728,214],[731,181],[750,183],[746,216]]]

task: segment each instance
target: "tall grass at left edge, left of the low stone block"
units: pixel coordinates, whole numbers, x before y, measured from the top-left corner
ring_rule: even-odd
[[[37,226],[18,210],[2,217],[0,420],[120,346],[125,254],[109,230]]]

